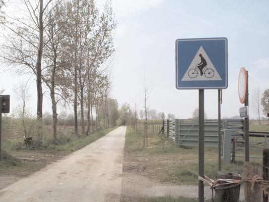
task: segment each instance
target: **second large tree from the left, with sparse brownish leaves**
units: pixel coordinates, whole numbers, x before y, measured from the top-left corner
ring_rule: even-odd
[[[44,61],[46,67],[43,70],[42,79],[49,89],[52,105],[52,128],[53,138],[57,139],[57,104],[65,100],[61,94],[60,83],[66,82],[61,76],[65,61],[63,55],[63,41],[65,39],[64,29],[69,16],[64,12],[63,4],[58,4],[48,14],[47,29],[45,30],[45,39],[47,40],[44,47]]]

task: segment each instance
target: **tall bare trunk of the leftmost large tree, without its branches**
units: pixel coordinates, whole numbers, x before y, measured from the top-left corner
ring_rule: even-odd
[[[42,92],[42,72],[41,72],[41,62],[43,55],[43,0],[40,0],[39,5],[39,45],[38,54],[36,62],[36,87],[37,87],[37,119],[42,120],[42,105],[43,105],[43,92]]]

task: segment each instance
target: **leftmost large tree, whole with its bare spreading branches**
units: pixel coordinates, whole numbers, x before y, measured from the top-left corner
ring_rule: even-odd
[[[6,37],[2,47],[1,58],[10,65],[24,66],[19,73],[33,73],[37,86],[37,118],[42,119],[42,57],[44,47],[44,15],[52,0],[20,0],[26,8],[26,18],[5,16],[7,21],[2,23],[11,34]],[[48,12],[49,13],[49,12]]]

